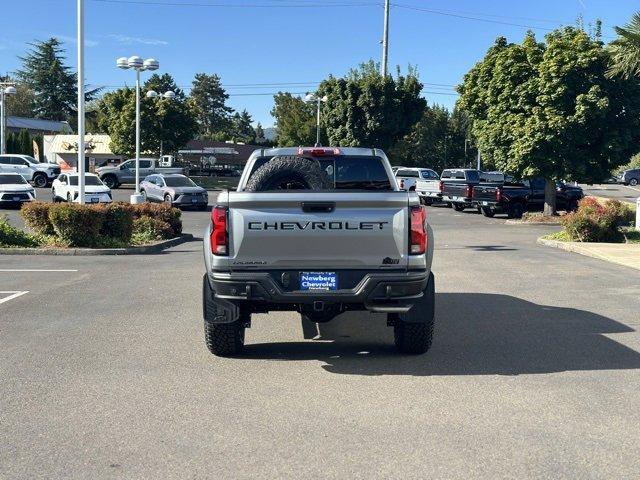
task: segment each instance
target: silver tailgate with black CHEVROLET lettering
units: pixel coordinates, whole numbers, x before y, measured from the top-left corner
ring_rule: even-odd
[[[407,192],[231,192],[232,270],[406,268]]]

